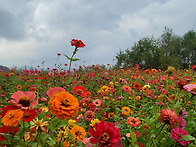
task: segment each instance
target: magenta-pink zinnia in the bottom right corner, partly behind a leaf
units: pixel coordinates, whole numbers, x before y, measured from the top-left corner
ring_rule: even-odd
[[[172,129],[170,135],[176,143],[179,143],[182,146],[186,146],[186,144],[189,144],[189,141],[180,140],[182,136],[189,135],[184,129],[181,128]]]

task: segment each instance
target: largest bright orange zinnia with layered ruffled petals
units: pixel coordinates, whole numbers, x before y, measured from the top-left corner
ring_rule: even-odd
[[[71,119],[79,111],[78,99],[69,92],[61,91],[54,94],[48,103],[50,104],[50,112],[60,119]]]

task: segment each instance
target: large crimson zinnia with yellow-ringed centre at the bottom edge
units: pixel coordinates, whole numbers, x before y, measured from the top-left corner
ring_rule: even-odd
[[[120,129],[115,127],[113,123],[100,121],[94,128],[89,129],[91,135],[90,142],[98,143],[99,147],[111,147],[120,141]]]

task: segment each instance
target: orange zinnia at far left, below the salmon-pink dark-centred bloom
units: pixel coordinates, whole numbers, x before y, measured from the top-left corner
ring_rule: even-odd
[[[17,126],[19,125],[19,120],[23,117],[24,112],[20,109],[9,110],[5,116],[2,118],[2,123],[5,126]]]

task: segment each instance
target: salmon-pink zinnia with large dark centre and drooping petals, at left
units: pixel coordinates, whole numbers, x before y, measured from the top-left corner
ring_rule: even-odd
[[[14,92],[11,96],[13,100],[10,100],[9,103],[12,103],[21,109],[28,109],[37,106],[36,95],[31,91],[23,92],[17,91]]]

